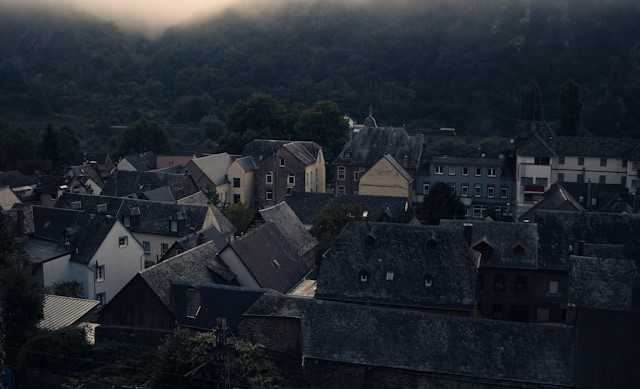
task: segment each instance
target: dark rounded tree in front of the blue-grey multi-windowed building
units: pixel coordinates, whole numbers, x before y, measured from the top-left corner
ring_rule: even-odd
[[[418,218],[427,224],[438,224],[440,219],[462,219],[464,215],[464,204],[443,183],[435,184],[418,206]]]

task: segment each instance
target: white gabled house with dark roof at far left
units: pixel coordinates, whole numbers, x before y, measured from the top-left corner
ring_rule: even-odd
[[[33,223],[24,249],[43,287],[77,282],[84,297],[104,304],[144,269],[142,244],[117,218],[36,206]]]

